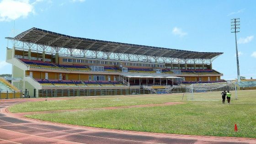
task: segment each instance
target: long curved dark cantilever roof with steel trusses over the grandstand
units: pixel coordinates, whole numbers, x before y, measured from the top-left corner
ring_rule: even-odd
[[[106,53],[126,53],[179,59],[212,59],[222,54],[210,52],[194,52],[171,48],[102,41],[82,37],[72,37],[35,27],[18,34],[14,38],[6,38],[15,39],[21,42],[35,43],[53,48],[74,48],[90,51],[101,51]]]

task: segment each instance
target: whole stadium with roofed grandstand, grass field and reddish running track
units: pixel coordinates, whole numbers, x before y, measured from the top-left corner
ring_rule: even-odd
[[[222,80],[212,64],[223,53],[35,27],[5,38],[12,77],[0,77],[0,142],[256,142],[256,81]],[[231,103],[221,104],[222,91],[232,95]]]

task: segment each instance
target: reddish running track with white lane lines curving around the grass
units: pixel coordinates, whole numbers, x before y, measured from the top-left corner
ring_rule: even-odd
[[[53,100],[56,98],[48,98]],[[0,100],[0,144],[256,144],[256,139],[144,133],[43,122],[7,107],[42,98]]]

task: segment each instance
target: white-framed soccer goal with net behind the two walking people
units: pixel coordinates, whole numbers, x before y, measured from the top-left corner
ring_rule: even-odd
[[[221,92],[228,91],[231,98],[237,99],[235,82],[203,83],[186,86],[187,100],[192,101],[218,101],[221,100]]]

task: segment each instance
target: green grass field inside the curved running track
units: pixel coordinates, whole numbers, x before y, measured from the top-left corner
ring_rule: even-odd
[[[181,101],[182,94],[144,96],[104,96],[65,101],[27,102],[10,108],[11,112],[83,109],[90,107],[128,106],[163,102],[184,104],[98,109],[74,112],[42,113],[26,117],[97,128],[112,128],[156,133],[256,138],[256,91],[238,91],[231,104],[219,101]],[[119,98],[119,99],[117,99]],[[61,106],[59,106],[61,105]],[[34,108],[32,108],[34,107]],[[238,132],[234,132],[234,124]]]

